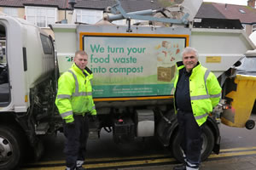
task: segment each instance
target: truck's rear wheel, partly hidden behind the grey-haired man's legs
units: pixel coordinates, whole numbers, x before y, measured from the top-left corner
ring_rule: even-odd
[[[201,161],[205,161],[207,157],[211,155],[214,146],[214,135],[211,128],[206,125],[201,137],[203,139]],[[175,157],[177,161],[183,162],[183,153],[179,144],[180,139],[176,133],[171,139],[172,156]]]

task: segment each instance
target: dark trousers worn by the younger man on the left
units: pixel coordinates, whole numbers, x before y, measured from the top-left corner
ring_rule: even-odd
[[[84,161],[86,144],[89,135],[88,117],[74,116],[74,126],[68,127],[64,123],[64,135],[66,137],[64,153],[66,164],[70,169],[77,167],[77,161]]]

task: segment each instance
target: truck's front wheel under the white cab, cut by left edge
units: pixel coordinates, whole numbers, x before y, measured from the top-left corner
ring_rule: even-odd
[[[0,126],[0,169],[15,169],[21,161],[22,141],[19,129]]]

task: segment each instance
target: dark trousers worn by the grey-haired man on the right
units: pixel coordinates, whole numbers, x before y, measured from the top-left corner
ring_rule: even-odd
[[[201,163],[201,127],[195,122],[192,112],[177,111],[178,134],[188,167],[199,167]]]

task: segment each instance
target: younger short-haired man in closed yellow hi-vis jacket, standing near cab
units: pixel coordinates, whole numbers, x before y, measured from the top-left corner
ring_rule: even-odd
[[[86,67],[87,63],[88,55],[84,51],[77,51],[72,67],[58,81],[55,105],[64,122],[67,170],[85,169],[82,165],[89,135],[88,116],[96,117],[90,83],[93,75]]]

